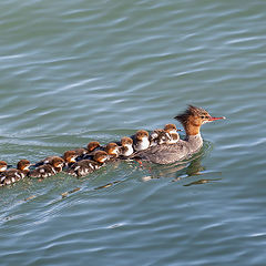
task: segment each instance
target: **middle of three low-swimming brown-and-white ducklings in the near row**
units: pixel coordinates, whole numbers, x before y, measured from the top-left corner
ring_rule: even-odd
[[[33,178],[45,178],[58,174],[64,166],[64,160],[59,156],[54,156],[50,163],[43,164],[29,173]]]

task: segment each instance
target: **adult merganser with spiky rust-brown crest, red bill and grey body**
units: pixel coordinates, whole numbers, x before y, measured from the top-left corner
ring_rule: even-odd
[[[175,119],[184,126],[186,133],[184,141],[178,140],[175,144],[151,146],[145,151],[137,152],[133,157],[158,164],[170,164],[184,160],[196,153],[203,145],[201,126],[225,117],[212,117],[204,109],[190,105],[184,113],[176,115]]]

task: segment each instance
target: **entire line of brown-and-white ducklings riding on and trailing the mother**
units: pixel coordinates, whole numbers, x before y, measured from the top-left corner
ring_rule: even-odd
[[[133,136],[124,136],[120,142],[111,142],[101,146],[93,141],[86,147],[66,151],[62,156],[49,156],[35,164],[21,160],[17,168],[8,168],[4,161],[0,161],[0,186],[9,185],[25,176],[45,178],[65,171],[68,174],[80,177],[102,167],[106,161],[115,158],[133,158],[139,151],[150,146],[174,144],[180,140],[174,124],[166,124],[163,130],[155,130],[150,135],[140,130]]]

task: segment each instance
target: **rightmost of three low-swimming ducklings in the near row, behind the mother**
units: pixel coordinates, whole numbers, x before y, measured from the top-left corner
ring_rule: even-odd
[[[80,177],[85,176],[92,173],[95,170],[99,170],[104,165],[104,162],[109,158],[109,155],[104,151],[98,151],[93,155],[92,160],[82,160],[71,165],[71,167],[66,171],[69,174]]]

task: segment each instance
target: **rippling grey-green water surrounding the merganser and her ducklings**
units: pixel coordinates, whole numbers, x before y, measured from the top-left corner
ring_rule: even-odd
[[[195,104],[185,164],[0,190],[1,265],[265,265],[264,1],[0,3],[1,160],[153,130]],[[180,125],[178,125],[180,126]]]

